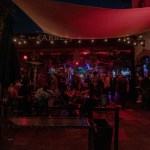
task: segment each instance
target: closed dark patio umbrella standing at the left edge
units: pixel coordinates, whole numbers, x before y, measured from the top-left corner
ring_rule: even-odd
[[[0,84],[2,87],[20,79],[17,51],[12,43],[12,23],[11,14],[6,13],[0,41]]]

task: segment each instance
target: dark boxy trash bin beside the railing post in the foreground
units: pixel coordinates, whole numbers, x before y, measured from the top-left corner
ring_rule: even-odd
[[[94,150],[111,150],[113,128],[106,119],[94,119]]]

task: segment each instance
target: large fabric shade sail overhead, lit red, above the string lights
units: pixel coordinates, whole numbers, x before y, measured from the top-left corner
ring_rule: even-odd
[[[100,39],[150,30],[150,7],[109,9],[50,0],[12,0],[44,32],[72,39]]]

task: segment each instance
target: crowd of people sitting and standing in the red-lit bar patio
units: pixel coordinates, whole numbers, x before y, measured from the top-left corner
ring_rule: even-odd
[[[137,103],[144,107],[150,107],[150,79],[141,77],[137,72],[135,77],[135,96]],[[130,99],[131,79],[119,73],[116,77],[112,73],[93,71],[81,78],[75,72],[68,81],[64,72],[59,74],[48,74],[43,83],[33,92],[33,85],[30,79],[23,76],[22,80],[11,84],[7,90],[8,103],[19,105],[23,114],[32,115],[33,103],[38,115],[42,114],[45,108],[53,106],[66,106],[70,108],[81,107],[88,111],[91,107],[107,107],[121,105],[126,109],[127,100]],[[31,106],[32,104],[32,106]],[[68,115],[75,115],[69,110]]]

